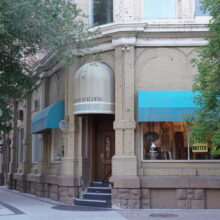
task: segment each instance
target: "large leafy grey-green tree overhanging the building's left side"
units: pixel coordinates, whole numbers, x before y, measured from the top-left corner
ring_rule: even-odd
[[[0,130],[10,119],[11,103],[23,98],[37,77],[26,57],[52,51],[67,61],[73,51],[89,46],[95,33],[71,0],[1,0],[0,2]]]

